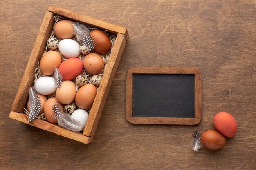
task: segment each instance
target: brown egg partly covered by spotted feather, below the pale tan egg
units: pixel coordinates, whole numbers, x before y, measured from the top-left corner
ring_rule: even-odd
[[[44,106],[44,113],[45,113],[45,118],[47,119],[47,121],[55,124],[56,120],[54,119],[54,112],[52,110],[54,104],[58,104],[58,106],[60,107],[61,111],[64,111],[63,105],[58,102],[58,100],[56,98],[49,98],[46,102],[45,102],[45,106]]]

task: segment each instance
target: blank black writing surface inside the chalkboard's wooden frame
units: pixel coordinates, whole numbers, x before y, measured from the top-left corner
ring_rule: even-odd
[[[193,74],[133,74],[132,117],[195,117]]]

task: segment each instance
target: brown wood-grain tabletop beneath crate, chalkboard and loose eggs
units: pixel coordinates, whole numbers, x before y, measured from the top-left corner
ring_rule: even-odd
[[[8,118],[47,6],[128,29],[129,39],[92,143],[86,145]],[[256,1],[1,0],[1,170],[254,170],[256,168]],[[135,66],[202,72],[197,126],[126,120],[126,72]],[[238,131],[224,148],[191,149],[194,130],[214,130],[231,113]]]

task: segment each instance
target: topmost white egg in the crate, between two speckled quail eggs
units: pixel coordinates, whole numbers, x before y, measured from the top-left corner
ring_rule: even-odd
[[[63,39],[58,43],[61,54],[67,58],[76,58],[80,55],[80,45],[75,40]]]

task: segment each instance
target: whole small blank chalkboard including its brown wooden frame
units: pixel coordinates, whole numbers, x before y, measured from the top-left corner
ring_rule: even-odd
[[[130,68],[126,118],[133,124],[198,124],[201,73],[197,68]]]

